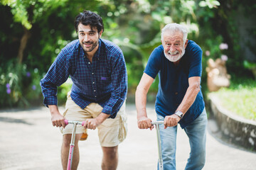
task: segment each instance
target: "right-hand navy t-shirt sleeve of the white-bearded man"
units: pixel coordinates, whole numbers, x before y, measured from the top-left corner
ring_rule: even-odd
[[[189,56],[189,77],[201,77],[202,76],[202,55],[203,51],[199,45],[197,45],[195,42],[193,42],[193,46],[188,50],[188,56]]]

